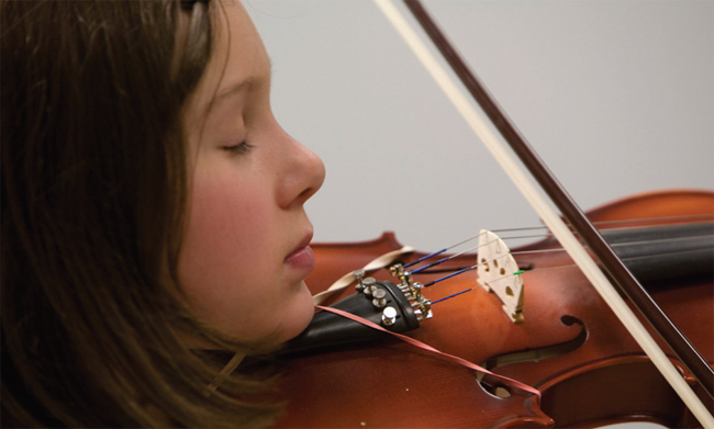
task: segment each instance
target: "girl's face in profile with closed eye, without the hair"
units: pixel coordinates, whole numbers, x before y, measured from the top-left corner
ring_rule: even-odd
[[[214,50],[186,110],[190,203],[179,278],[194,314],[246,341],[310,323],[314,268],[303,204],[322,185],[315,154],[270,110],[270,64],[238,1],[212,3]]]

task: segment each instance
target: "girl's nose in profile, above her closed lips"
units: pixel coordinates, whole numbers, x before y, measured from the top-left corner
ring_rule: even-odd
[[[287,173],[282,176],[278,201],[281,207],[302,206],[317,192],[325,180],[322,159],[298,140],[288,136]]]

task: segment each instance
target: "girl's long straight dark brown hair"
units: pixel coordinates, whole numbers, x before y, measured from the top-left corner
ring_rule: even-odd
[[[7,1],[1,15],[2,426],[256,426],[266,383],[187,338],[181,109],[207,1]],[[168,274],[168,275],[167,275]],[[261,396],[263,397],[263,396]]]

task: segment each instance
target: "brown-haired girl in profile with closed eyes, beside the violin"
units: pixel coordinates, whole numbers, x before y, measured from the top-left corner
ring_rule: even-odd
[[[324,167],[237,1],[3,1],[2,424],[256,426],[313,313]]]

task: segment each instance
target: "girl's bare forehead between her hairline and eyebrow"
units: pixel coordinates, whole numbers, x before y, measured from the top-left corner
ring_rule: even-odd
[[[266,80],[270,74],[268,55],[253,21],[236,0],[216,1],[213,11],[211,58],[189,103],[189,117],[205,113],[211,104]]]

